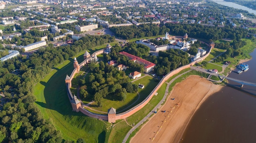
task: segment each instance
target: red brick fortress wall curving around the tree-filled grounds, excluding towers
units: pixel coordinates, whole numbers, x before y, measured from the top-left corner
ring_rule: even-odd
[[[119,113],[116,115],[116,120],[117,119],[125,119],[127,117],[129,117],[130,115],[136,113],[137,111],[139,111],[141,108],[143,108],[146,104],[148,104],[148,102],[151,100],[151,98],[155,95],[155,93],[157,92],[157,90],[163,85],[163,83],[168,80],[169,78],[171,78],[171,76],[179,73],[180,71],[182,71],[183,69],[186,69],[186,68],[189,68],[190,66],[192,65],[195,65],[196,63],[199,63],[200,61],[204,60],[205,58],[207,58],[207,56],[209,56],[210,52],[211,52],[211,49],[212,47],[210,48],[209,52],[204,55],[202,58],[196,60],[196,61],[193,61],[191,63],[189,63],[189,65],[184,65],[182,67],[179,67],[171,72],[169,72],[168,74],[166,74],[166,76],[164,76],[162,78],[162,80],[160,80],[160,82],[157,84],[157,86],[153,89],[153,91],[151,91],[151,93],[147,96],[147,98],[145,100],[143,100],[141,103],[137,104],[136,106],[130,108],[128,111],[125,111],[123,113]],[[103,50],[99,50],[97,52],[94,52],[92,54],[92,56],[94,55],[99,55],[99,54],[102,54],[103,53]],[[90,57],[92,58],[92,57]],[[83,65],[85,65],[86,63],[88,63],[90,59],[89,58],[86,58],[82,63],[80,63],[80,68],[83,67]],[[71,87],[71,81],[72,79],[74,78],[74,75],[78,72],[78,70],[76,70],[76,68],[73,70],[72,74],[70,75],[70,83],[67,83],[67,92],[68,92],[68,96],[69,96],[69,99],[70,97],[73,98],[73,95],[70,91],[70,87]],[[70,100],[71,101],[71,100]],[[85,115],[88,115],[89,117],[94,117],[94,118],[97,118],[97,119],[103,119],[103,120],[108,120],[108,116],[107,115],[100,115],[100,114],[95,114],[95,113],[92,113],[88,110],[86,110],[85,108],[83,108],[83,106],[80,106],[79,107],[79,111],[82,112],[83,114]]]

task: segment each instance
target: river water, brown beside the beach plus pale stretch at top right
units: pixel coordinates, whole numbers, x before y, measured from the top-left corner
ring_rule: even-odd
[[[216,2],[216,1],[214,1]],[[256,11],[233,2],[217,2],[237,9]],[[252,60],[246,62],[249,70],[242,74],[231,72],[229,77],[256,83],[256,50]],[[229,81],[232,85],[240,86]],[[243,87],[256,94],[256,87]],[[211,95],[195,112],[187,126],[181,143],[255,143],[256,96],[225,86]]]

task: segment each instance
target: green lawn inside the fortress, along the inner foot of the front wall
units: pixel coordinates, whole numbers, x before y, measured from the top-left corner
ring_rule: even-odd
[[[155,86],[158,84],[158,81],[156,82],[154,78],[151,76],[145,76],[144,78],[141,78],[135,81],[134,83],[137,85],[139,85],[140,83],[145,86],[144,89],[138,90],[140,97],[137,95],[137,93],[127,93],[127,98],[125,101],[114,101],[114,100],[109,100],[104,98],[102,100],[102,105],[103,105],[102,107],[97,107],[97,103],[94,102],[92,103],[91,108],[98,111],[107,112],[109,108],[113,107],[117,109],[117,113],[124,109],[128,110],[131,107],[142,102],[149,95],[149,93],[155,88]],[[130,108],[127,108],[128,106],[130,106]]]

